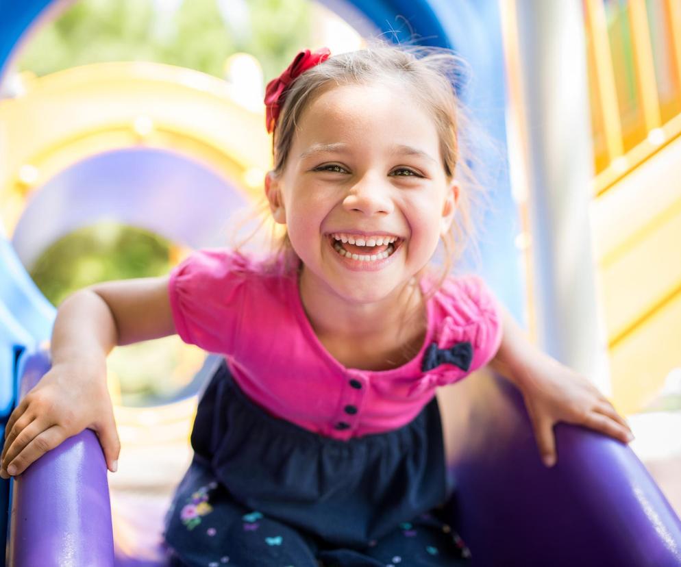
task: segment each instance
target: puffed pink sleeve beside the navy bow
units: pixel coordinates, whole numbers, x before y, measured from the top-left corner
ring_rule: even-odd
[[[445,281],[438,297],[444,313],[436,336],[438,347],[471,345],[468,368],[456,368],[456,375],[462,377],[488,364],[499,350],[503,330],[502,311],[493,292],[481,277],[465,275]]]

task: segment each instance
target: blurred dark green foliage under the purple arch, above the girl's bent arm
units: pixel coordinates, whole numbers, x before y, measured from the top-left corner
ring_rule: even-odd
[[[153,277],[170,268],[170,243],[119,223],[97,223],[52,244],[30,270],[40,291],[59,305],[75,290],[99,281]]]

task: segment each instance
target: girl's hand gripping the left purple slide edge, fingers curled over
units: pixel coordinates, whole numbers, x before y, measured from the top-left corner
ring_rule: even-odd
[[[115,472],[121,443],[106,389],[106,366],[53,366],[10,415],[0,476],[21,475],[44,453],[86,428],[99,436],[107,466]]]

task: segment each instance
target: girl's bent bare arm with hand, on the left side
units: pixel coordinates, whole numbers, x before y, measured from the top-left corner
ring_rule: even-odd
[[[106,355],[116,345],[175,333],[169,277],[99,283],[75,292],[57,311],[52,366],[14,409],[5,428],[0,476],[19,475],[43,453],[90,428],[109,470],[121,444],[106,387]]]

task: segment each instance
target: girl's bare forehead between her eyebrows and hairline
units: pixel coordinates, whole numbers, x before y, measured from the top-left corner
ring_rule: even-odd
[[[299,117],[295,151],[336,142],[417,146],[439,155],[434,117],[410,88],[397,82],[332,86],[315,95]]]

